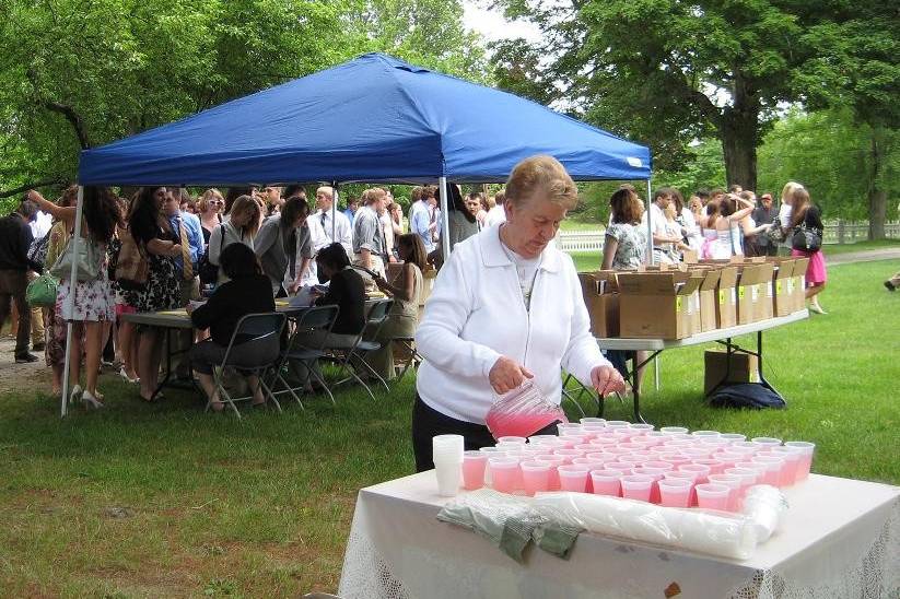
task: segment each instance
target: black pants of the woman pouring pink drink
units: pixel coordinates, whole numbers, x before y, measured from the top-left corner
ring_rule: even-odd
[[[549,424],[533,433],[535,435],[556,435],[557,423]],[[491,432],[483,424],[456,420],[429,407],[416,394],[412,404],[412,451],[416,455],[416,471],[432,470],[431,439],[436,435],[463,435],[467,451],[490,447],[496,443]]]

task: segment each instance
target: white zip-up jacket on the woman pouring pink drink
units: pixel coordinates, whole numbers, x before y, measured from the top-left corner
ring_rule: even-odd
[[[484,424],[494,401],[488,375],[505,355],[535,375],[543,396],[559,403],[561,369],[585,385],[608,365],[589,332],[572,258],[545,248],[525,309],[516,268],[491,226],[456,245],[425,303],[416,347],[419,397],[439,412]]]

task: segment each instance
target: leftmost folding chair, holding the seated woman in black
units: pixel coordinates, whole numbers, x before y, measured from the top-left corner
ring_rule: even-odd
[[[225,355],[219,368],[213,368],[212,380],[217,395],[224,398],[225,403],[234,410],[237,418],[241,411],[235,406],[235,401],[253,399],[256,389],[250,389],[250,395],[246,397],[232,398],[223,385],[225,368],[231,366],[244,373],[255,374],[262,387],[266,397],[272,400],[278,411],[281,406],[272,395],[271,389],[264,379],[265,372],[271,367],[281,353],[281,331],[284,329],[285,317],[279,313],[248,314],[237,321],[234,332],[225,349]],[[207,410],[212,407],[212,401],[207,400]]]

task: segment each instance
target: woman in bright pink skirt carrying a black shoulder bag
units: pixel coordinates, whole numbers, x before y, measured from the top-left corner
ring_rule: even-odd
[[[809,201],[805,187],[795,187],[785,198],[791,205],[791,256],[809,258],[806,267],[806,300],[809,309],[816,314],[828,314],[819,305],[819,294],[828,281],[828,272],[822,254],[822,215],[818,207]]]

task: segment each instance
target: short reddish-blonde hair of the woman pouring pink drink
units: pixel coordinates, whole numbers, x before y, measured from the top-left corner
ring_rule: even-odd
[[[524,205],[536,197],[572,210],[578,202],[578,188],[553,156],[537,155],[525,158],[510,174],[506,181],[506,201]]]

